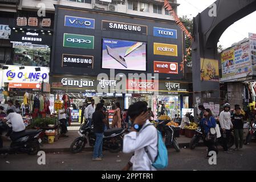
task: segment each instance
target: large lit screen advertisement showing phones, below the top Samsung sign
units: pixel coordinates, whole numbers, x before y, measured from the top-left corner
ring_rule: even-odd
[[[102,68],[146,71],[146,43],[103,39]]]

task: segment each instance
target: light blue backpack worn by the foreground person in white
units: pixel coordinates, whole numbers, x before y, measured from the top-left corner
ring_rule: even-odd
[[[146,125],[144,129],[151,125],[152,124]],[[164,144],[164,141],[162,140],[162,134],[159,130],[157,130],[157,155],[155,160],[153,160],[151,155],[149,154],[147,146],[144,147],[144,149],[148,155],[148,158],[151,160],[153,167],[155,167],[156,169],[162,169],[168,166],[168,151]]]

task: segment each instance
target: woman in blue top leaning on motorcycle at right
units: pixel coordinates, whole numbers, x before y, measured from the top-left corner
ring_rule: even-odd
[[[210,132],[210,129],[216,127],[216,120],[213,117],[212,111],[210,109],[205,109],[204,111],[204,118],[200,121],[200,126],[204,129],[204,136]],[[208,154],[206,158],[210,158],[209,155],[210,151],[215,151],[218,154],[218,148],[216,147],[216,141],[214,140],[206,140],[204,137],[204,143],[208,147]]]

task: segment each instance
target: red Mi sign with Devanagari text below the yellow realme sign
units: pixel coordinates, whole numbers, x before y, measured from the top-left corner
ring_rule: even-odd
[[[178,63],[154,61],[154,72],[178,74]]]

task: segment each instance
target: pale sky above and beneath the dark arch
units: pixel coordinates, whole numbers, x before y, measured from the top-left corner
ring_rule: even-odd
[[[188,18],[197,16],[198,13],[204,11],[212,5],[216,0],[177,0],[178,16],[186,15]],[[254,22],[254,23],[253,23]],[[239,42],[244,38],[248,38],[248,33],[256,34],[256,11],[232,24],[222,34],[218,45],[228,48],[231,44]]]

